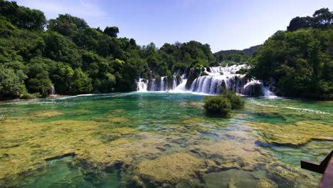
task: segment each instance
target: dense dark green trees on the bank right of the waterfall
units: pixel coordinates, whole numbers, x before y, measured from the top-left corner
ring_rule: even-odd
[[[250,74],[272,79],[281,95],[333,98],[333,14],[329,9],[296,17],[253,54]]]

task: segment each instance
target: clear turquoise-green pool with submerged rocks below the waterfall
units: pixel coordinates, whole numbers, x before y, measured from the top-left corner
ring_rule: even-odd
[[[0,103],[0,184],[317,186],[320,176],[299,164],[333,149],[332,102],[245,98],[244,110],[223,118],[204,113],[203,97],[112,93]]]

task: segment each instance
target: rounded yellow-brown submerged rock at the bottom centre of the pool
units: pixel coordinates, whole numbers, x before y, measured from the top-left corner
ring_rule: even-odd
[[[138,164],[133,179],[142,187],[177,187],[186,184],[195,187],[201,184],[200,174],[206,172],[206,162],[186,153],[162,156],[159,160],[146,160]],[[179,186],[179,185],[178,185]]]

